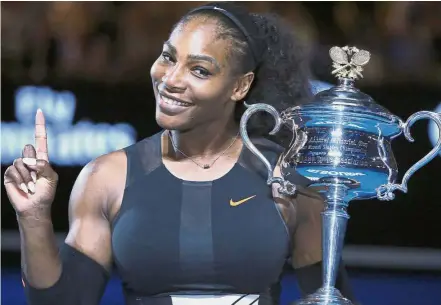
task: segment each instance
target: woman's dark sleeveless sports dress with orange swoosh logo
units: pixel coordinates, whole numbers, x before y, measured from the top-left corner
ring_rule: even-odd
[[[280,146],[253,143],[276,163]],[[194,182],[164,166],[160,133],[125,152],[127,180],[112,247],[127,304],[171,305],[171,294],[257,294],[259,305],[278,304],[290,236],[260,160],[244,146],[225,176]]]

